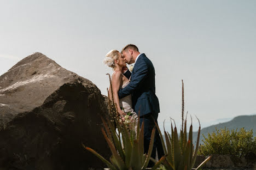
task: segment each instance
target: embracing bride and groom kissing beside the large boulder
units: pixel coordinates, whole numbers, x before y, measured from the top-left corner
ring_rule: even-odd
[[[127,69],[127,64],[133,64],[132,72]],[[157,123],[159,109],[158,97],[155,95],[155,69],[146,54],[140,53],[133,44],[126,45],[121,52],[111,50],[106,54],[104,64],[113,68],[112,91],[113,100],[121,117],[133,113],[139,124],[144,122],[144,153],[148,153],[152,130]],[[112,94],[112,93],[110,93]],[[123,108],[123,110],[121,109]],[[152,150],[153,159],[164,156],[161,139],[156,130]],[[154,163],[149,162],[149,167]]]

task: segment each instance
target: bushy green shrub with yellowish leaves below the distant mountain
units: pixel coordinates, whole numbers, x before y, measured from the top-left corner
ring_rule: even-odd
[[[241,128],[239,131],[229,129],[217,129],[216,132],[208,133],[208,138],[203,135],[203,145],[200,146],[200,155],[232,155],[245,156],[249,152],[256,153],[256,138],[253,131]]]

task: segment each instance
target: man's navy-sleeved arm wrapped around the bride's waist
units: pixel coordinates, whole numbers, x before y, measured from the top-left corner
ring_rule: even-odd
[[[132,94],[133,90],[136,90],[145,78],[148,76],[148,65],[144,60],[141,60],[138,67],[135,67],[133,70],[133,76],[131,82],[123,89],[120,89],[118,92],[119,99],[124,98],[127,95]]]

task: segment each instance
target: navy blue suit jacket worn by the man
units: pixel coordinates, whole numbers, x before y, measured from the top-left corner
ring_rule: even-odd
[[[132,94],[132,107],[139,116],[158,114],[159,101],[155,95],[155,69],[144,53],[139,56],[131,73],[131,82],[118,92],[119,98]]]

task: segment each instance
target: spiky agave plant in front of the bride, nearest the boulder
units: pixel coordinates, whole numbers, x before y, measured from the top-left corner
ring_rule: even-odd
[[[109,76],[110,79],[110,76]],[[110,88],[111,82],[110,82]],[[113,95],[112,95],[113,96]],[[112,100],[113,101],[113,100]],[[146,169],[150,160],[150,155],[152,154],[155,128],[152,130],[151,140],[149,143],[148,153],[144,153],[144,123],[142,123],[141,128],[139,128],[139,120],[137,122],[137,129],[133,126],[133,129],[127,129],[123,122],[119,122],[119,116],[115,104],[113,104],[110,99],[109,113],[112,119],[104,120],[102,122],[104,129],[102,128],[102,134],[106,139],[109,148],[112,152],[110,161],[106,160],[100,154],[98,154],[94,149],[89,147],[83,147],[89,150],[91,153],[95,154],[99,159],[106,163],[107,167],[110,169],[120,169],[120,170],[142,170]],[[117,127],[117,131],[116,128]],[[152,169],[156,169],[161,162],[165,159],[163,156],[158,162],[155,163]]]

